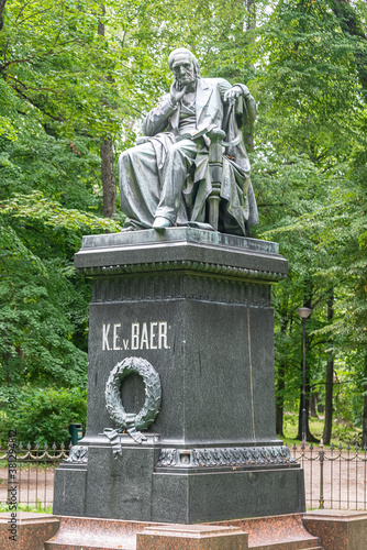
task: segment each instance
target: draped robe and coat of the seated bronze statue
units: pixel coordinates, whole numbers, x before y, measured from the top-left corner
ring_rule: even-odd
[[[233,143],[225,147],[223,156],[219,230],[245,235],[258,222],[249,162],[242,140],[243,125],[255,120],[256,105],[252,96],[240,96],[232,106],[224,103],[224,94],[231,88],[223,78],[198,78],[191,106],[181,101],[174,108],[170,96],[166,95],[147,114],[143,123],[146,138],[140,140],[143,143],[122,153],[119,160],[121,208],[127,216],[125,227],[152,228],[156,216],[167,217],[177,224],[205,227],[207,199],[212,190],[210,140],[205,132],[214,127],[225,131],[226,143]],[[188,139],[192,132],[197,136]],[[179,153],[179,158],[176,154],[171,161],[173,152]]]

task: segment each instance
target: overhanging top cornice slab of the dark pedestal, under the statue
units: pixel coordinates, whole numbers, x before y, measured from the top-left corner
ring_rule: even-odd
[[[85,237],[75,255],[76,267],[90,276],[151,271],[151,264],[155,271],[174,267],[264,279],[281,278],[288,271],[276,243],[188,228]]]

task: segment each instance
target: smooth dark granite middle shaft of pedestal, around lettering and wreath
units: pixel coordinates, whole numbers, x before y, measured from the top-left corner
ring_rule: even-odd
[[[141,334],[146,323],[148,342],[142,344],[138,338],[133,342],[134,323]],[[159,323],[164,323],[163,334],[167,338],[159,341],[154,337],[151,346],[152,330],[158,334]],[[103,326],[104,334],[110,327],[104,349]],[[114,326],[121,336],[115,346],[125,343],[126,350],[113,350]],[[135,344],[141,349],[132,349]],[[162,408],[149,431],[158,432],[164,443],[277,441],[270,308],[201,300],[92,305],[87,436],[115,427],[105,409],[105,383],[113,366],[132,355],[146,359],[159,373]],[[138,388],[136,394],[138,398]],[[134,407],[136,394],[125,392],[127,410]]]

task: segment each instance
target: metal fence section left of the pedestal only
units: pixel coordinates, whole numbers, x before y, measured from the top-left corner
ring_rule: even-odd
[[[8,450],[0,447],[0,503],[26,506],[29,509],[48,509],[54,499],[54,477],[58,464],[68,458],[69,448],[54,443],[32,449],[20,443]]]

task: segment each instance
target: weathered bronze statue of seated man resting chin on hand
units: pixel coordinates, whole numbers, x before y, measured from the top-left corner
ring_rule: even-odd
[[[248,235],[258,213],[242,128],[255,120],[255,100],[243,84],[201,78],[189,50],[171,52],[168,64],[170,92],[145,118],[145,138],[119,160],[125,228]]]

